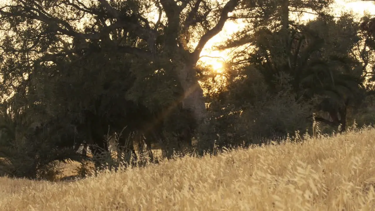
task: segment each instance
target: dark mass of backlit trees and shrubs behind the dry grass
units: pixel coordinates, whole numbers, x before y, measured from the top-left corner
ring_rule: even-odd
[[[375,25],[334,17],[332,3],[12,1],[0,11],[0,174],[43,178],[92,159],[82,144],[100,167],[110,137],[129,163],[135,144],[171,158],[304,133],[313,113],[326,132],[372,123]],[[315,19],[291,18],[307,11]],[[234,49],[225,71],[198,65],[239,19],[246,26],[216,47]]]

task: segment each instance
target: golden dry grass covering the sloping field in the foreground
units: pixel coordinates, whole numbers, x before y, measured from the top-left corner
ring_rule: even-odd
[[[0,178],[0,210],[375,210],[375,129],[73,182]]]

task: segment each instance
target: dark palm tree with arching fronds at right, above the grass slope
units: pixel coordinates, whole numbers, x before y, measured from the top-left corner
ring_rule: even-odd
[[[250,62],[263,74],[271,90],[278,92],[282,75],[288,75],[296,100],[306,102],[318,97],[317,111],[328,112],[329,119],[316,120],[346,128],[347,107],[361,93],[362,66],[349,56],[326,55],[326,42],[314,31],[304,27],[302,32],[291,30],[288,43],[280,42],[280,33],[261,32],[255,42],[258,51]],[[283,89],[285,87],[281,87]]]

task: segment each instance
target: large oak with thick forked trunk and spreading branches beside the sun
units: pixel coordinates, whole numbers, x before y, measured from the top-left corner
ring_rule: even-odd
[[[239,3],[15,0],[1,7],[0,22],[6,33],[1,47],[4,52],[27,53],[32,58],[26,74],[38,63],[90,50],[90,43],[133,54],[177,78],[183,95],[176,103],[190,110],[202,126],[207,116],[195,65],[204,45],[223,29]],[[157,19],[150,21],[150,15]]]

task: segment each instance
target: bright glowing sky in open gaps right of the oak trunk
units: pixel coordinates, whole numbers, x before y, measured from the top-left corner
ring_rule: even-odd
[[[334,7],[337,15],[339,15],[342,11],[350,10],[352,10],[354,13],[357,13],[360,16],[363,15],[364,11],[368,11],[370,14],[375,15],[375,5],[372,1],[363,2],[359,0],[336,0]],[[304,19],[305,18],[314,18],[314,15],[307,14],[304,17]],[[225,23],[223,30],[207,42],[204,49],[202,50],[201,56],[222,57],[223,59],[228,59],[227,54],[229,51],[212,51],[211,48],[213,45],[220,44],[220,42],[230,38],[231,35],[237,30],[239,30],[241,27],[241,24],[236,24],[233,22]],[[222,68],[223,59],[202,57],[200,61],[206,63],[207,65],[212,65],[215,71],[220,72],[220,68]]]

